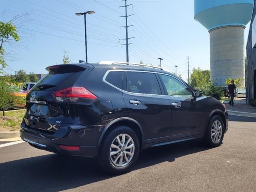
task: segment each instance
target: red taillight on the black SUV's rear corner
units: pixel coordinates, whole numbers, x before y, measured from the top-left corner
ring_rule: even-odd
[[[97,98],[84,87],[70,87],[56,91],[52,93],[52,97],[58,102],[84,102]]]

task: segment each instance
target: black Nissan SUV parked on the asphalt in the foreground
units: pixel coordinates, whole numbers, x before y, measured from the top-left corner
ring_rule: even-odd
[[[225,106],[161,68],[122,62],[46,68],[28,93],[20,136],[59,154],[97,156],[104,170],[132,168],[142,149],[228,130]]]

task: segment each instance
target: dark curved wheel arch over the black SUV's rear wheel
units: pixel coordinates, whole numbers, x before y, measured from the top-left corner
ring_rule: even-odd
[[[106,127],[103,129],[102,133],[100,134],[100,138],[98,140],[98,146],[100,146],[102,139],[107,132],[110,132],[117,126],[122,126],[122,125],[130,127],[130,128],[132,128],[132,130],[134,130],[134,132],[136,132],[136,134],[138,135],[138,139],[139,139],[139,143],[140,143],[140,150],[141,150],[143,141],[144,141],[144,134],[142,131],[142,127],[136,120],[129,118],[129,117],[117,118],[117,119],[109,122],[106,125]]]

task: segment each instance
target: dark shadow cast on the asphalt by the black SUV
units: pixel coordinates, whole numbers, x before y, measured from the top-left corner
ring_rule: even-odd
[[[208,149],[200,140],[148,148],[141,152],[132,171]],[[1,192],[57,192],[112,177],[98,167],[96,158],[48,154],[0,164]]]

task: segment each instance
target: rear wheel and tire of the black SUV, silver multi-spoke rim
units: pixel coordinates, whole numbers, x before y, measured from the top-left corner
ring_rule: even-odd
[[[140,144],[134,130],[128,126],[118,126],[104,136],[98,153],[98,164],[106,172],[122,174],[131,170],[139,152]]]

